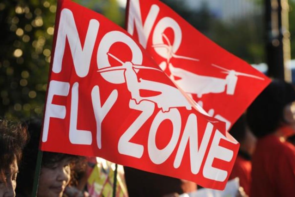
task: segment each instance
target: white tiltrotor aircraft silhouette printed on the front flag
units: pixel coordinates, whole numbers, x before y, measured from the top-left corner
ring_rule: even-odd
[[[103,73],[115,70],[124,70],[124,79],[127,85],[127,89],[131,93],[131,99],[135,100],[136,104],[139,104],[142,100],[147,100],[156,103],[158,108],[161,108],[163,112],[169,111],[170,108],[177,107],[185,107],[186,109],[191,110],[191,104],[186,100],[186,98],[177,88],[155,81],[137,79],[137,69],[150,69],[163,72],[162,70],[142,65],[135,65],[129,61],[123,62],[111,53],[107,53],[107,55],[120,62],[122,66],[106,67],[103,69],[99,69],[98,72]],[[141,97],[140,89],[160,92],[160,94],[150,97]]]

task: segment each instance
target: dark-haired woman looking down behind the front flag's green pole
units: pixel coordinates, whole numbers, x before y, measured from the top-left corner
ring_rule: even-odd
[[[41,122],[30,120],[27,124],[30,141],[23,151],[23,165],[17,177],[17,182],[19,183],[16,188],[17,196],[31,196],[33,192]],[[81,159],[83,157],[76,155],[43,152],[37,196],[61,197],[65,194],[65,188],[68,185],[72,186],[68,189],[67,196],[87,196],[74,187],[77,185],[76,173],[74,171],[75,164],[78,164]]]

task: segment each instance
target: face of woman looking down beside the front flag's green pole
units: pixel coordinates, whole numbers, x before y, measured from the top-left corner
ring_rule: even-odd
[[[62,196],[70,182],[70,160],[63,159],[51,167],[41,167],[37,196]]]

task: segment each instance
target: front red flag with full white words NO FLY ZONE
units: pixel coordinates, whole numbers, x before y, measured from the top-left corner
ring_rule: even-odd
[[[223,189],[239,144],[121,27],[58,1],[41,149]]]

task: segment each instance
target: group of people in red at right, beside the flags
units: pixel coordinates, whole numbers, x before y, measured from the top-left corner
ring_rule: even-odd
[[[273,80],[231,130],[240,150],[230,178],[249,196],[295,196],[293,85]]]

